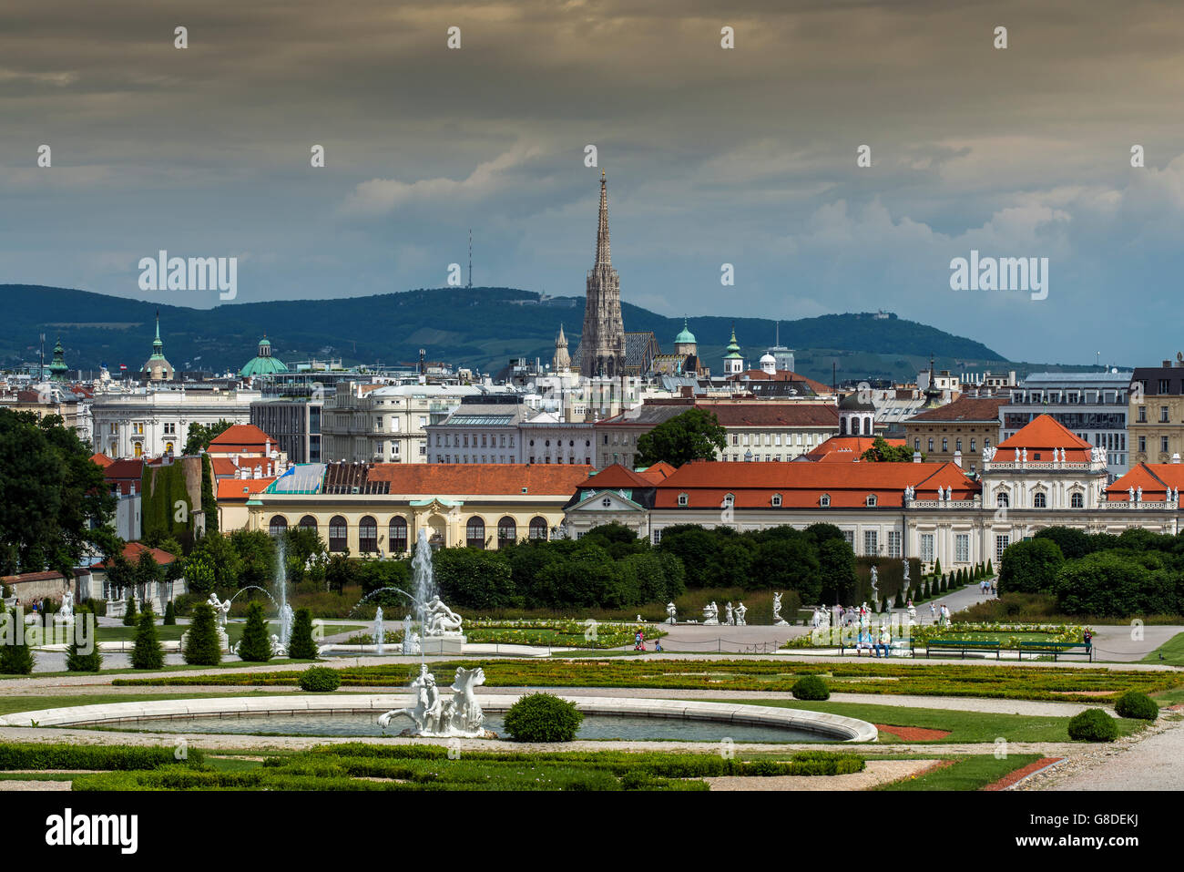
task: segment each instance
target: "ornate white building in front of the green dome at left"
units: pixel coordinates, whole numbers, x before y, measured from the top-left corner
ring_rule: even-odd
[[[259,398],[258,391],[210,387],[96,393],[90,405],[95,450],[111,460],[180,454],[189,424],[249,424],[251,403]]]

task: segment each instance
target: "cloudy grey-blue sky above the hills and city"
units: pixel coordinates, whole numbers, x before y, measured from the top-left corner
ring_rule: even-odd
[[[581,294],[604,168],[622,296],[664,314],[883,308],[1037,361],[1184,350],[1178,5],[21,6],[0,283],[148,297],[136,264],[166,249],[238,257],[239,302],[439,287],[471,226],[476,284]],[[1049,258],[1048,299],[951,290],[972,249]]]

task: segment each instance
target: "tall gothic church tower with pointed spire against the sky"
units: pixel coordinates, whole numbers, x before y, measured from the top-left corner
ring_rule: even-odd
[[[616,378],[625,372],[625,325],[620,318],[620,276],[609,254],[609,188],[600,171],[600,225],[596,263],[587,274],[584,332],[580,334],[580,373]]]

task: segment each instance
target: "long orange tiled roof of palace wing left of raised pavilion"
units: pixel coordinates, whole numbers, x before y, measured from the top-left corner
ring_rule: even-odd
[[[862,508],[870,494],[879,506],[903,505],[905,488],[918,499],[937,499],[938,487],[969,500],[980,486],[953,463],[687,463],[658,485],[655,508],[719,508],[727,494],[736,508],[767,508],[773,494],[786,508],[816,508],[824,494],[835,508]]]

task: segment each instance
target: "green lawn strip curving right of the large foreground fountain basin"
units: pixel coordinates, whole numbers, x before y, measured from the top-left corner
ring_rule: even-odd
[[[858,718],[869,724],[890,726],[924,726],[929,730],[947,730],[948,736],[916,744],[995,742],[1068,742],[1069,716],[1040,717],[1032,714],[998,714],[993,712],[964,712],[952,708],[912,708],[906,706],[874,705],[864,703],[806,701],[797,699],[715,699],[712,703],[741,703],[745,705],[770,705],[780,708],[806,708],[830,714]],[[1141,720],[1120,718],[1120,736],[1127,736],[1144,727]],[[881,742],[893,743],[890,736],[881,736]],[[910,743],[913,744],[913,743]]]

